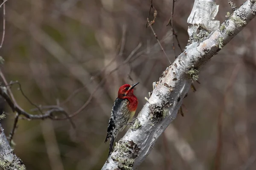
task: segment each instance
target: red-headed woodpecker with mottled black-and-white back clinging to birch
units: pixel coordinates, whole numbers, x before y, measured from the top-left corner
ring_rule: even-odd
[[[108,156],[110,156],[113,150],[113,144],[117,134],[125,129],[135,114],[138,106],[138,99],[133,93],[134,87],[137,84],[139,84],[139,82],[134,85],[125,84],[119,88],[118,96],[112,107],[111,116],[108,122],[108,134],[105,139],[106,143],[108,138],[111,138]]]

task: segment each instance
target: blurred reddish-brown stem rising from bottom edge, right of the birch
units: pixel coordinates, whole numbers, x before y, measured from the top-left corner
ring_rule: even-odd
[[[227,102],[227,95],[230,92],[236,77],[239,73],[239,69],[241,67],[240,62],[238,64],[236,64],[232,75],[229,79],[229,82],[227,84],[225,93],[224,93],[224,97],[223,97],[223,101],[221,102],[221,107],[220,107],[220,111],[218,112],[218,118],[217,118],[217,150],[216,150],[216,156],[215,156],[215,170],[220,170],[221,167],[221,152],[222,152],[222,114],[224,112],[225,106],[226,106],[226,102]]]

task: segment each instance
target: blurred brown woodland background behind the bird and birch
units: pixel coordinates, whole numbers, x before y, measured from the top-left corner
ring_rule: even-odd
[[[237,6],[245,0],[233,0]],[[176,0],[173,23],[181,48],[187,44],[186,23],[194,0]],[[216,0],[222,23],[227,0]],[[171,61],[180,54],[168,24],[172,0],[153,2],[158,14],[154,31]],[[19,120],[14,152],[28,170],[99,170],[108,157],[104,143],[113,101],[119,86],[140,82],[135,89],[137,113],[169,66],[154,34],[146,28],[150,0],[9,0],[1,69],[8,82],[18,80],[37,105],[64,102],[68,113],[89,105],[73,122]],[[153,19],[153,10],[150,20]],[[0,8],[3,31],[3,8]],[[139,170],[211,170],[218,142],[220,169],[256,169],[256,19],[201,70],[196,92],[183,100],[184,117],[177,115],[160,136]],[[83,88],[84,87],[84,88]],[[34,108],[12,86],[17,103]],[[9,106],[2,124],[6,135],[13,126]],[[30,112],[32,113],[32,112]],[[136,116],[137,116],[136,113]],[[219,115],[222,115],[221,119]],[[220,121],[221,120],[221,121]],[[222,127],[219,139],[218,127]],[[119,134],[118,140],[125,134]]]

